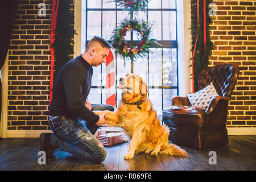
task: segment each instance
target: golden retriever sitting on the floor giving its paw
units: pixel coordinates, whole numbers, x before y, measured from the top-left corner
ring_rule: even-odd
[[[153,156],[160,153],[188,157],[187,152],[168,142],[170,130],[166,125],[160,125],[156,111],[147,98],[146,82],[138,75],[127,74],[119,79],[119,87],[122,89],[122,100],[116,111],[107,111],[104,117],[109,126],[121,126],[131,138],[125,159],[132,159],[141,152]],[[103,112],[94,111],[98,115]]]

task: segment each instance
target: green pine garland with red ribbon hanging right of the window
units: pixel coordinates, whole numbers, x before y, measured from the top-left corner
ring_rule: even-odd
[[[214,47],[213,42],[210,40],[210,27],[209,24],[212,23],[212,18],[209,16],[209,4],[212,3],[212,0],[206,0],[206,48],[204,51],[204,1],[199,1],[199,24],[197,24],[197,0],[191,0],[191,34],[192,34],[192,53],[195,48],[196,36],[197,45],[194,56],[194,88],[195,92],[198,90],[197,76],[199,72],[208,68],[209,57],[212,55],[212,50]]]

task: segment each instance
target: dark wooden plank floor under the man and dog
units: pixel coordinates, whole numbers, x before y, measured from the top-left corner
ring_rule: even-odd
[[[107,156],[102,164],[86,164],[67,152],[56,150],[55,162],[39,165],[39,139],[3,139],[0,141],[0,170],[256,170],[256,135],[229,136],[229,144],[207,150],[181,147],[188,152],[190,158],[140,154],[134,159],[124,160],[129,143],[105,148]],[[217,164],[209,164],[209,151],[216,151]]]

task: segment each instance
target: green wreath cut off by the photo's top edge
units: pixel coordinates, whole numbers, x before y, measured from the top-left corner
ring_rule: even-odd
[[[114,0],[118,6],[125,7],[130,12],[146,9],[148,1],[150,0]]]

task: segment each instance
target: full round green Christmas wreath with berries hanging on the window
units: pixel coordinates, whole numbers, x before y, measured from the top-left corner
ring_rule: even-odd
[[[129,45],[124,39],[127,31],[133,31],[141,36],[141,40],[137,40],[135,45]],[[160,46],[155,39],[150,39],[151,26],[148,22],[137,19],[123,19],[120,26],[113,31],[111,38],[112,46],[115,48],[115,55],[119,54],[123,60],[131,59],[135,61],[139,57],[147,56],[150,47]]]

